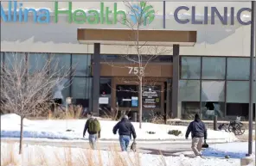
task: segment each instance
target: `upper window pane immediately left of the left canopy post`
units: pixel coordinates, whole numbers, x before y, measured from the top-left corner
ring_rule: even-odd
[[[90,76],[91,55],[72,54],[72,66],[75,69],[74,76]]]

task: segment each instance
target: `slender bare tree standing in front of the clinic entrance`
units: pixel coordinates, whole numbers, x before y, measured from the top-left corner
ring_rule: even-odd
[[[155,11],[153,10],[153,7],[146,2],[140,2],[139,5],[135,3],[129,3],[124,2],[126,8],[128,11],[131,11],[131,20],[128,20],[126,18],[121,18],[119,22],[122,24],[125,24],[125,26],[129,29],[131,29],[132,34],[129,36],[130,41],[133,44],[129,44],[126,47],[127,54],[120,55],[122,58],[125,58],[129,65],[122,65],[118,67],[122,68],[128,68],[129,73],[132,72],[135,77],[138,78],[138,110],[139,110],[139,128],[142,127],[142,109],[143,109],[143,101],[142,101],[142,95],[143,95],[143,86],[154,84],[154,83],[148,83],[148,81],[144,80],[145,75],[149,73],[145,73],[145,69],[147,65],[150,64],[150,61],[157,58],[159,55],[167,55],[170,53],[170,50],[168,50],[166,47],[160,47],[160,46],[152,46],[148,45],[145,41],[142,43],[140,38],[140,30],[147,26],[150,22],[152,22],[155,18]],[[131,50],[135,50],[135,56],[129,54],[128,52],[131,52]],[[109,65],[117,67],[115,64],[110,63],[107,61]],[[132,64],[132,67],[131,67]],[[113,87],[112,87],[113,88]],[[120,90],[120,89],[116,89]],[[129,90],[129,89],[128,89]],[[134,92],[134,90],[131,89],[131,91]]]

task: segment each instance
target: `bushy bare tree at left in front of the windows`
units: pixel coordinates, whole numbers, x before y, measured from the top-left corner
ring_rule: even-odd
[[[42,114],[43,103],[52,101],[54,87],[72,71],[47,56],[43,61],[36,59],[33,65],[29,65],[28,59],[29,54],[12,53],[1,65],[1,109],[21,117],[19,154],[22,153],[24,118]]]

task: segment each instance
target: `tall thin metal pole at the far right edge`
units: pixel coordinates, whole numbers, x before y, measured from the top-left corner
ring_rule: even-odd
[[[249,96],[249,137],[248,137],[248,156],[252,155],[253,153],[253,71],[254,71],[254,63],[253,63],[253,57],[255,54],[255,28],[256,28],[256,22],[255,22],[255,6],[256,3],[252,1],[252,24],[251,24],[251,57],[250,57],[250,96]]]

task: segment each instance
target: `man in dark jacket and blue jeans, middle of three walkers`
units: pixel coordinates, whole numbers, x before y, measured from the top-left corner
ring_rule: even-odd
[[[125,115],[121,121],[118,122],[116,126],[113,127],[113,133],[116,134],[118,131],[119,134],[119,142],[122,151],[127,151],[127,147],[131,140],[131,134],[135,140],[136,132],[134,126],[128,120],[128,116]]]

